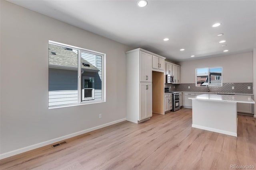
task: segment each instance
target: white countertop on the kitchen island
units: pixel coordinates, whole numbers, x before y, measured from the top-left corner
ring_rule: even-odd
[[[228,94],[201,94],[198,96],[191,96],[188,99],[255,104],[254,100],[252,100],[252,98],[249,98],[247,96],[228,95]]]

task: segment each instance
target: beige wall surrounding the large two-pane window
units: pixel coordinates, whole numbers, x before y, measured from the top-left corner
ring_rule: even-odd
[[[0,17],[1,154],[126,118],[130,47],[2,0]],[[48,40],[106,53],[106,102],[48,109]]]

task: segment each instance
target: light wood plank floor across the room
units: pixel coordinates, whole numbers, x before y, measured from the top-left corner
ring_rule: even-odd
[[[224,170],[256,169],[256,119],[238,115],[238,137],[192,125],[182,108],[135,124],[124,121],[52,148],[42,147],[0,161],[1,170]]]

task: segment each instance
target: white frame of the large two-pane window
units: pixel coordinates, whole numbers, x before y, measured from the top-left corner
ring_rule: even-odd
[[[58,45],[61,47],[66,47],[66,48],[72,48],[72,49],[76,49],[78,50],[78,103],[76,104],[64,104],[61,106],[49,106],[49,97],[48,97],[48,109],[54,109],[54,108],[62,108],[62,107],[70,107],[70,106],[80,106],[80,105],[86,105],[86,104],[96,104],[96,103],[102,103],[102,102],[106,102],[106,54],[105,53],[101,53],[101,52],[97,52],[97,51],[92,51],[92,50],[88,50],[88,49],[84,49],[81,47],[76,47],[73,45],[67,45],[64,43],[59,43],[56,41],[48,41],[48,44],[52,44],[52,45]],[[90,54],[94,54],[94,55],[100,55],[102,57],[101,59],[101,72],[102,72],[102,77],[101,77],[101,95],[102,98],[101,100],[82,100],[82,68],[81,68],[81,52],[85,52],[85,53],[90,53]],[[49,58],[49,56],[48,56]],[[49,69],[49,62],[48,62],[48,69]],[[48,72],[48,76],[49,76],[49,72]],[[49,82],[48,82],[49,84]],[[48,86],[48,92],[49,92],[49,86]],[[49,96],[49,94],[48,94]]]

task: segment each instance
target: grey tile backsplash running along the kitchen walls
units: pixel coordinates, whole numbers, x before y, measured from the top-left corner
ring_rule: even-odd
[[[165,87],[170,86],[170,91],[207,92],[206,86],[196,87],[195,83],[165,84]],[[188,88],[188,86],[190,86],[190,88]],[[248,89],[248,86],[250,86],[250,89]],[[234,90],[232,90],[232,87],[234,87]],[[252,94],[252,83],[223,83],[222,86],[209,86],[209,90],[214,93]]]

